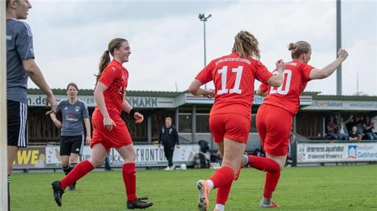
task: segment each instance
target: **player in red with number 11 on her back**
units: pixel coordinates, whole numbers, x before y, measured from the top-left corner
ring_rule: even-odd
[[[249,136],[254,80],[272,86],[280,86],[283,81],[283,61],[276,63],[278,73],[272,75],[259,58],[258,40],[251,33],[240,31],[235,36],[232,54],[211,61],[188,88],[193,95],[215,97],[209,127],[223,155],[221,168],[209,180],[197,183],[199,210],[208,210],[211,189],[218,188],[215,210],[223,210],[228,200]],[[209,81],[214,81],[215,90],[200,88]]]

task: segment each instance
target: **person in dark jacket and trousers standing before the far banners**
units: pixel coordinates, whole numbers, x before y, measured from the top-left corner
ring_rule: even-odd
[[[179,148],[179,140],[177,129],[174,127],[174,125],[172,125],[172,118],[170,117],[165,118],[165,125],[161,127],[160,139],[158,139],[158,148],[160,148],[161,143],[163,145],[165,157],[168,159],[168,166],[165,168],[165,170],[174,170],[175,165],[172,164],[172,156],[175,145],[177,145],[177,148]]]

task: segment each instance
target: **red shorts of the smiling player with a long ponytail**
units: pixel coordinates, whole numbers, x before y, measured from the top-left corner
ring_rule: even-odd
[[[103,125],[103,118],[97,115],[96,118],[91,119],[93,125],[93,139],[91,139],[90,146],[93,147],[97,143],[102,143],[107,151],[110,148],[120,148],[132,144],[132,139],[126,123],[119,117],[112,118],[117,126],[112,127],[112,130],[107,130]]]

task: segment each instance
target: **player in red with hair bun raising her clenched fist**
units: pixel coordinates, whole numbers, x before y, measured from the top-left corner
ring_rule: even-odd
[[[244,164],[266,172],[263,199],[260,208],[279,207],[272,202],[272,192],[280,178],[287,157],[289,136],[293,116],[300,107],[300,95],[311,79],[324,79],[332,75],[338,66],[347,58],[348,53],[339,49],[338,58],[322,70],[313,68],[307,63],[311,59],[311,46],[308,42],[290,43],[288,49],[293,61],[286,63],[281,86],[262,84],[258,95],[265,96],[256,116],[256,126],[260,135],[266,157],[244,155]]]

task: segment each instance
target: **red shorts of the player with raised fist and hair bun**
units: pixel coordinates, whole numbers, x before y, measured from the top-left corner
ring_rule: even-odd
[[[274,156],[287,155],[293,116],[279,107],[262,104],[256,115],[256,127],[262,147]]]

